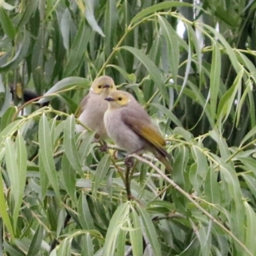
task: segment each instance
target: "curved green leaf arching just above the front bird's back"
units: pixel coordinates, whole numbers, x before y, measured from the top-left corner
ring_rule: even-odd
[[[150,74],[150,76],[152,77],[154,82],[156,83],[157,88],[162,93],[163,97],[165,99],[168,99],[168,94],[166,91],[166,87],[164,86],[164,83],[163,83],[163,78],[161,76],[159,69],[154,64],[154,62],[152,60],[150,60],[144,52],[142,52],[139,49],[136,49],[134,47],[122,46],[122,47],[120,47],[120,49],[125,49],[125,50],[131,52],[132,54],[134,54],[134,56],[136,58],[138,58],[138,60],[140,60],[143,63],[143,65],[147,68],[148,73]]]

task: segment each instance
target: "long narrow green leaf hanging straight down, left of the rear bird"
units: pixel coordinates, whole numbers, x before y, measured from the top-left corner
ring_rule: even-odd
[[[60,190],[58,185],[57,173],[55,170],[53,152],[51,147],[51,137],[49,123],[45,115],[42,115],[39,122],[38,141],[40,146],[40,155],[42,157],[42,164],[44,171],[47,174],[49,182],[56,193],[58,199],[61,200]]]

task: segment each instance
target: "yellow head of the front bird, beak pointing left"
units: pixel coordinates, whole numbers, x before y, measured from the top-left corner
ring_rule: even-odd
[[[135,100],[134,97],[124,91],[116,90],[115,92],[109,93],[108,97],[105,98],[109,102],[109,108],[122,108],[127,106],[131,100]]]

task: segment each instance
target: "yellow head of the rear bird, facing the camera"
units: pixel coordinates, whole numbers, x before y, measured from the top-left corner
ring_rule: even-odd
[[[100,76],[95,79],[92,83],[90,90],[93,93],[104,95],[107,97],[110,92],[114,92],[116,90],[115,83],[113,79],[109,76]]]

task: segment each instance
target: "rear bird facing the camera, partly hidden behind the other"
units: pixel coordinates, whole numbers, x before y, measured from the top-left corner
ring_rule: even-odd
[[[116,90],[113,79],[109,76],[100,76],[96,78],[91,87],[90,92],[81,101],[81,114],[78,119],[86,127],[97,132],[100,140],[108,139],[108,134],[103,122],[104,113],[108,109],[108,102],[104,100],[110,92]],[[76,124],[76,132],[84,131],[81,124]]]

